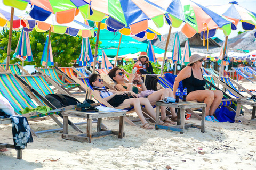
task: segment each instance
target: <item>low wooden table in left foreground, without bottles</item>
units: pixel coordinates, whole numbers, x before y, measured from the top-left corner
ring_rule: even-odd
[[[63,139],[76,140],[79,142],[92,142],[92,137],[100,137],[103,135],[114,134],[118,135],[118,138],[123,138],[124,136],[124,116],[126,116],[125,110],[97,106],[99,112],[81,112],[76,110],[62,111],[63,116]],[[68,116],[87,118],[87,133],[79,135],[68,134]],[[101,122],[103,117],[120,117],[119,121],[119,131],[113,131],[101,128]],[[92,119],[97,118],[97,132],[92,133]]]

